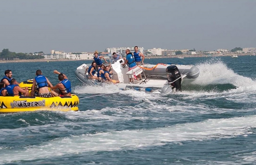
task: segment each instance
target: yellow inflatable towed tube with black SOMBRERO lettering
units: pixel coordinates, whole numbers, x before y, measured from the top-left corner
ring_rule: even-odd
[[[33,81],[33,80],[32,80]],[[28,82],[28,81],[26,81]],[[21,87],[29,87],[21,82]],[[75,94],[63,97],[24,97],[24,96],[0,96],[0,113],[24,112],[24,111],[78,111],[79,99]]]

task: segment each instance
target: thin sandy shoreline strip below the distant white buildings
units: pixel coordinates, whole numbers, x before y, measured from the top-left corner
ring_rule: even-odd
[[[146,56],[145,59],[160,59],[160,58],[178,58],[178,57],[225,57],[225,56],[245,56],[250,54],[212,54],[207,56],[205,54],[195,54],[195,55],[172,55],[172,56]],[[0,63],[14,63],[14,62],[52,62],[52,61],[85,61],[92,59],[19,59],[19,60],[0,60]]]

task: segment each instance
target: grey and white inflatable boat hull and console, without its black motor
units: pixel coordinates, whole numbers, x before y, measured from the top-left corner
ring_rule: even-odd
[[[146,90],[146,91],[159,91],[161,93],[172,93],[175,92],[175,88],[170,84],[166,85],[166,64],[158,64],[152,65],[152,64],[145,64],[140,68],[143,70],[143,74],[145,73],[145,77],[142,80],[130,83],[128,82],[128,68],[123,68],[120,66],[123,59],[120,59],[119,61],[112,64],[112,71],[113,71],[113,80],[119,80],[120,83],[117,83],[116,86],[119,87],[121,90]],[[85,68],[90,66],[90,64],[82,64],[79,66],[76,71],[75,75],[78,80],[83,82],[86,85],[99,85],[99,82],[97,80],[92,80],[88,78],[88,73],[85,73]],[[179,69],[181,75],[182,75],[182,84],[187,84],[195,80],[199,76],[199,69],[196,66],[193,65],[175,65]],[[153,68],[154,67],[154,68]],[[138,67],[137,67],[138,68]],[[141,73],[141,74],[142,74]],[[142,74],[142,75],[143,75]],[[146,78],[146,80],[145,80]],[[143,81],[144,80],[144,81]]]

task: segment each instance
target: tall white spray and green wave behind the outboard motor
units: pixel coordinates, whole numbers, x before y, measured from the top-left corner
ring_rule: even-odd
[[[202,64],[197,64],[200,69],[199,77],[184,90],[199,91],[255,91],[256,81],[235,73],[220,59],[212,59]]]

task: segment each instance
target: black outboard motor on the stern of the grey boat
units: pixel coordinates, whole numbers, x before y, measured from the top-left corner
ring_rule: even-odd
[[[176,88],[176,92],[181,92],[181,75],[180,71],[175,65],[168,66],[166,68],[166,75],[168,78],[168,82],[173,82],[173,88]],[[178,79],[178,80],[177,80]]]

